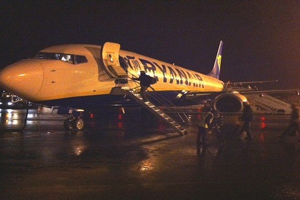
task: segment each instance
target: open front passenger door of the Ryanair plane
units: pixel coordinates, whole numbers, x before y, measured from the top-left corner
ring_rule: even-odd
[[[108,75],[114,78],[126,78],[127,73],[119,62],[120,44],[105,42],[101,47],[101,59]]]

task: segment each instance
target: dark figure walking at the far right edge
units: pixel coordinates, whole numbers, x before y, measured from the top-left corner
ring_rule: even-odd
[[[295,136],[296,131],[300,133],[300,127],[299,127],[299,110],[296,107],[296,104],[292,103],[291,104],[291,115],[290,115],[290,123],[287,126],[287,128],[280,134],[278,135],[281,138],[285,138],[286,135],[291,135]]]

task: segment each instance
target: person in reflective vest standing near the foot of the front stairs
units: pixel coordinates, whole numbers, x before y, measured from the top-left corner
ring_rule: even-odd
[[[198,126],[198,134],[197,134],[197,153],[206,151],[206,135],[207,129],[211,127],[211,122],[213,120],[213,114],[210,111],[210,106],[206,105],[203,109],[202,118],[199,120]]]

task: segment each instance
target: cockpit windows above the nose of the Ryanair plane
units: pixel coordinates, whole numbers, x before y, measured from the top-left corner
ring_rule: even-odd
[[[74,55],[66,53],[50,53],[50,52],[38,52],[33,58],[35,59],[56,59],[65,61],[71,64],[80,64],[87,62],[87,59],[83,55]]]

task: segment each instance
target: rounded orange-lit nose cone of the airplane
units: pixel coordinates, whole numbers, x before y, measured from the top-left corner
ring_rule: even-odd
[[[43,80],[43,67],[35,60],[22,60],[0,70],[0,87],[26,100],[34,100]]]

